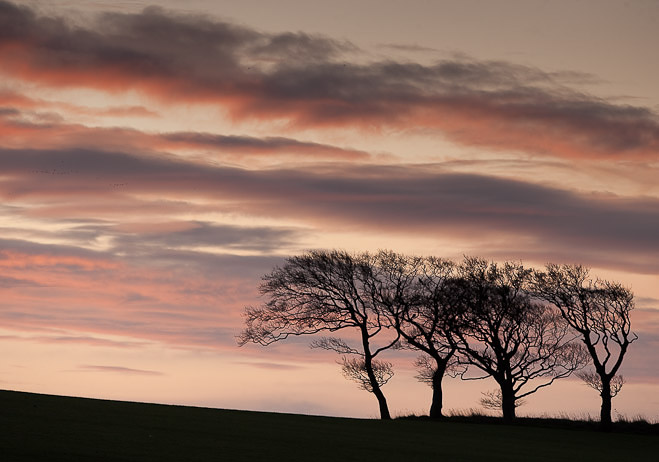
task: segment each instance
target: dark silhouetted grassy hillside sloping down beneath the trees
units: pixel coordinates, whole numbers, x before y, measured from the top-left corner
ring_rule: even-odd
[[[557,426],[382,422],[0,391],[2,462],[659,460],[656,434]]]

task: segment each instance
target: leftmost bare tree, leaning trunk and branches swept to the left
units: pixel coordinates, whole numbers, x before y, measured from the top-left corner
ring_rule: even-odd
[[[270,345],[290,335],[354,329],[359,349],[341,339],[325,343],[320,340],[316,346],[344,354],[357,353],[363,361],[370,391],[378,400],[380,416],[390,419],[375,358],[393,347],[398,336],[385,333],[390,326],[377,306],[373,289],[379,283],[374,281],[375,276],[374,257],[368,253],[311,251],[288,258],[282,267],[263,277],[259,289],[268,300],[262,306],[245,309],[246,327],[238,343]],[[379,346],[374,344],[375,337],[382,339]]]

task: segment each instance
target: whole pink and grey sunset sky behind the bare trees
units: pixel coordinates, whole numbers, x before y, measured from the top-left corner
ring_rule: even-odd
[[[614,418],[658,420],[659,3],[273,5],[0,0],[0,388],[377,417],[311,338],[236,336],[287,256],[389,249],[630,287]],[[427,412],[389,359],[392,413]]]

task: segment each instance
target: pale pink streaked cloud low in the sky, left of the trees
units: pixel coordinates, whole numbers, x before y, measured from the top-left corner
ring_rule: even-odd
[[[122,255],[6,239],[0,248],[3,277],[32,282],[0,286],[4,329],[36,333],[40,342],[110,347],[235,349],[240,311],[256,303],[259,278],[281,262],[159,247]]]

